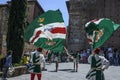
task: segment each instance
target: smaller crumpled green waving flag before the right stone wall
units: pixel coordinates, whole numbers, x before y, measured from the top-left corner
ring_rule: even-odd
[[[89,21],[85,24],[89,44],[93,49],[101,47],[119,27],[108,18]]]

